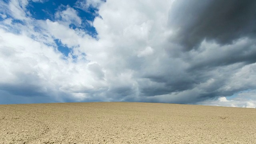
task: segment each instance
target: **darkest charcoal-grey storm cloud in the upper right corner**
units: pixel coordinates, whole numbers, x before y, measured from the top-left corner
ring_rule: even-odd
[[[172,40],[186,50],[204,39],[224,45],[256,36],[255,0],[179,0],[169,15],[170,26],[177,30]]]

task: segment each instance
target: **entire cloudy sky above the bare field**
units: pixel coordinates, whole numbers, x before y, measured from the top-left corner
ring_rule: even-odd
[[[0,104],[256,108],[255,0],[0,0]]]

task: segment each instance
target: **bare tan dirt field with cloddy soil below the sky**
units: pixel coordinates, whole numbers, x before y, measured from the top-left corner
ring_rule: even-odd
[[[0,144],[256,144],[256,109],[95,102],[0,105]]]

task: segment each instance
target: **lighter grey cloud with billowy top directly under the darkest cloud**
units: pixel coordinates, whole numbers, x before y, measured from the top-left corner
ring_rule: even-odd
[[[227,66],[230,64],[244,63],[253,64],[256,62],[256,42],[250,38],[240,38],[233,44],[220,45],[216,42],[205,40],[198,46],[197,51],[189,52],[189,60],[193,60],[191,68]]]

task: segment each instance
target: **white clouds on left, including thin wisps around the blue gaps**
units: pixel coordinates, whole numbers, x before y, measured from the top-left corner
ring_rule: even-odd
[[[83,100],[88,97],[86,93],[100,93],[106,90],[104,75],[102,77],[98,72],[93,76],[91,71],[97,69],[89,70],[90,64],[77,47],[84,38],[93,38],[80,30],[70,29],[66,24],[71,22],[81,24],[81,19],[74,9],[67,8],[59,12],[62,19],[58,22],[33,20],[24,16],[24,13],[22,15],[22,10],[26,11],[26,3],[22,6],[22,1],[12,2],[10,5],[20,10],[18,11],[20,14],[14,18],[24,20],[26,25],[5,20],[5,25],[2,25],[4,29],[0,29],[0,35],[4,36],[1,37],[0,42],[0,61],[4,63],[1,66],[1,74],[4,77],[0,79],[2,90],[8,92],[8,89],[14,86],[24,87],[19,90],[20,94],[16,93],[16,90],[9,92],[26,96],[25,91],[31,90],[30,93],[34,96],[47,95],[53,101],[63,101],[65,98]],[[33,30],[35,26],[40,28],[39,31]],[[13,29],[20,32],[12,33]],[[74,48],[74,53],[78,56],[77,62],[73,62],[72,56],[67,60],[62,59],[63,56],[56,50],[53,41],[55,38]]]

